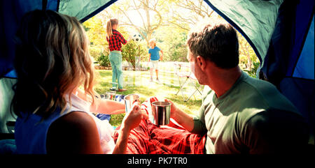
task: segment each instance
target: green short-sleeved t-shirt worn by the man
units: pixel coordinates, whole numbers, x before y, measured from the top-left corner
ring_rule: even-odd
[[[194,122],[192,132],[207,131],[207,153],[277,152],[299,143],[308,131],[295,106],[274,85],[245,72],[220,98],[205,86]]]

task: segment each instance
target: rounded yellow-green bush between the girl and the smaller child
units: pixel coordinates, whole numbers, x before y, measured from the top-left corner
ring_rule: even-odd
[[[123,60],[131,63],[133,68],[139,66],[140,61],[146,60],[146,47],[144,46],[145,45],[143,43],[137,43],[133,40],[130,40],[126,45],[123,45],[123,47],[121,48]]]

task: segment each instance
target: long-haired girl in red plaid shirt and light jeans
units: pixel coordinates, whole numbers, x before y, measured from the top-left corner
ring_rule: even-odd
[[[111,68],[113,71],[112,82],[118,81],[118,91],[127,91],[123,89],[123,69],[122,69],[122,43],[125,45],[130,39],[125,40],[123,35],[117,31],[118,20],[110,19],[106,24],[106,40],[109,42],[109,61],[111,62]],[[115,84],[113,84],[115,87]]]

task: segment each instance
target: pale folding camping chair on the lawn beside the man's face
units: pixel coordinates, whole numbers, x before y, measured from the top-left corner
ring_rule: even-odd
[[[179,91],[181,91],[181,96],[183,97],[183,101],[187,102],[193,95],[195,95],[195,93],[197,91],[200,93],[200,95],[202,95],[202,93],[200,91],[201,88],[200,88],[200,86],[197,86],[197,84],[196,84],[197,78],[195,77],[193,72],[191,72],[191,70],[189,70],[189,71],[185,70],[185,69],[189,69],[189,66],[186,66],[183,63],[174,63],[174,66],[175,66],[175,74],[179,78]],[[186,78],[183,83],[181,83],[181,77]],[[186,99],[184,96],[184,93],[183,93],[183,87],[189,83],[193,84],[193,86],[195,86],[195,90]],[[177,95],[179,93],[179,91],[177,91],[177,93],[175,95]]]

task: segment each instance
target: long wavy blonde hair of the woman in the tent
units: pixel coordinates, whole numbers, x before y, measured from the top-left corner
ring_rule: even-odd
[[[64,112],[66,95],[71,105],[71,93],[81,84],[94,103],[97,93],[88,43],[76,17],[52,10],[27,13],[17,33],[15,114],[36,113],[45,119],[57,108]]]

